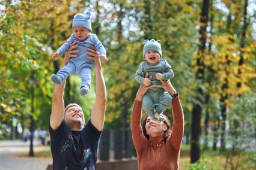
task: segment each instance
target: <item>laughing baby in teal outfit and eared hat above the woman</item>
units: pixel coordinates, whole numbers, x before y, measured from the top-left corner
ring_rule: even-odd
[[[162,58],[160,40],[145,40],[143,56],[145,61],[139,65],[135,74],[138,83],[145,84],[145,86],[162,84],[160,80],[169,80],[174,76],[171,66]],[[142,72],[148,74],[148,77],[142,77]],[[162,113],[171,105],[171,101],[172,96],[165,89],[152,87],[143,96],[142,108],[152,120],[163,121]]]

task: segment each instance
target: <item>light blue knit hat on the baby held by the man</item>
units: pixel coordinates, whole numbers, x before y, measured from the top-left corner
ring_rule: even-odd
[[[91,29],[91,13],[78,13],[75,15],[72,23],[72,29],[74,29],[75,26],[82,26],[84,28],[87,28],[90,32],[92,31]]]

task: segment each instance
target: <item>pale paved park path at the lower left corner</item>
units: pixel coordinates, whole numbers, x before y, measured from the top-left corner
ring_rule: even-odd
[[[34,151],[43,149],[37,141],[34,143]],[[0,170],[46,170],[47,165],[52,164],[51,158],[18,156],[28,153],[29,141],[0,141]]]

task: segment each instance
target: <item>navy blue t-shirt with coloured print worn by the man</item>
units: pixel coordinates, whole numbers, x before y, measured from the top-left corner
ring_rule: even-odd
[[[80,131],[72,131],[63,120],[58,129],[49,125],[53,170],[96,169],[97,151],[102,131],[91,120]]]

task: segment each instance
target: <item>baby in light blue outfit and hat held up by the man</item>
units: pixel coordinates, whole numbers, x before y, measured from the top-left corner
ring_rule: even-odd
[[[55,84],[61,84],[69,75],[78,75],[82,78],[80,95],[88,94],[91,87],[91,69],[93,68],[93,61],[87,59],[87,48],[94,45],[100,53],[100,59],[107,61],[106,50],[102,42],[98,39],[96,34],[91,34],[91,13],[78,13],[75,15],[72,23],[74,33],[70,36],[67,42],[58,48],[56,53],[52,55],[53,59],[64,54],[70,47],[70,44],[76,42],[79,53],[76,57],[72,57],[69,63],[60,69],[56,74],[52,74],[50,80]]]

